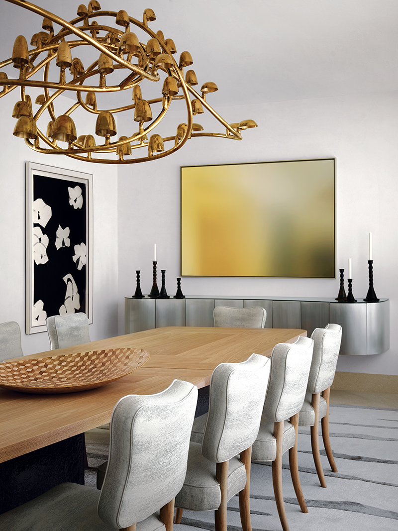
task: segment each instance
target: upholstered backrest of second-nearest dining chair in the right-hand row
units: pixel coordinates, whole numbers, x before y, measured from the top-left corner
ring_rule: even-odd
[[[202,454],[223,463],[252,446],[261,421],[270,359],[252,354],[243,363],[221,363],[210,380]]]

